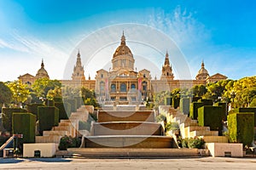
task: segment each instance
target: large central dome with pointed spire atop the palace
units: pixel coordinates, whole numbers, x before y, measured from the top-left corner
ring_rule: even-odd
[[[124,32],[121,37],[121,43],[113,54],[112,64],[113,71],[133,71],[134,69],[133,55],[131,54],[131,49],[126,46]]]

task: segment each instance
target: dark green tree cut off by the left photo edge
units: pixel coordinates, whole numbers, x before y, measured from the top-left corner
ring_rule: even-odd
[[[12,99],[12,92],[7,85],[0,82],[0,106],[9,104]]]

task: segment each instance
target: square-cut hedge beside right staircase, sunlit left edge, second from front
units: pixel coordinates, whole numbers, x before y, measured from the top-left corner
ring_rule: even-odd
[[[210,127],[211,130],[222,134],[222,106],[204,105],[198,109],[198,125],[201,127]]]

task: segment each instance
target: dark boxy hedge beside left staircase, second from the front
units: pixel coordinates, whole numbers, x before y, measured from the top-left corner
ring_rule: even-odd
[[[39,133],[50,130],[59,124],[59,109],[56,107],[38,107]]]

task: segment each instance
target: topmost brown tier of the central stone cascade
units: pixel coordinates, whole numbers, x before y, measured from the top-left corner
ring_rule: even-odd
[[[99,111],[98,122],[154,122],[154,111]]]

